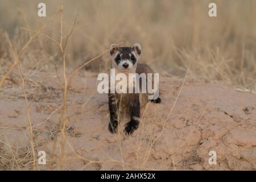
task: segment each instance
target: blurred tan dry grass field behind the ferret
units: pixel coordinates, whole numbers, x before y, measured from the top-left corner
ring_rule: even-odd
[[[46,17],[38,16],[38,3],[46,3]],[[209,17],[209,3],[217,4],[217,17]],[[256,89],[256,1],[27,1],[0,0],[0,76],[13,60],[5,32],[15,51],[43,24],[43,33],[59,40],[60,7],[64,5],[64,35],[78,14],[67,49],[71,70],[99,55],[112,43],[142,46],[141,63],[164,75],[222,80]],[[23,67],[52,69],[62,64],[59,47],[38,36],[21,56]],[[88,64],[86,70],[108,71],[109,53]]]

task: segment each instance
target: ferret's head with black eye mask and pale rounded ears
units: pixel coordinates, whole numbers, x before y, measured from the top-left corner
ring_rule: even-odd
[[[139,56],[141,56],[141,45],[136,43],[133,47],[118,47],[112,44],[109,53],[114,68],[129,71],[137,67]]]

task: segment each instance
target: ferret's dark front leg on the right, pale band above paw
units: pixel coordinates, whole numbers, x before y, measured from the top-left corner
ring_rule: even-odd
[[[130,98],[129,109],[131,114],[131,121],[126,123],[125,126],[125,133],[127,135],[132,134],[134,130],[137,130],[139,127],[139,113],[141,110],[139,94],[133,94],[133,97]]]

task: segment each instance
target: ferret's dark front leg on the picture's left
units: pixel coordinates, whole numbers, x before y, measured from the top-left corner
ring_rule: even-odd
[[[109,122],[109,131],[111,133],[117,132],[118,126],[118,105],[117,100],[115,99],[115,94],[109,93],[109,114],[110,114],[110,122]]]

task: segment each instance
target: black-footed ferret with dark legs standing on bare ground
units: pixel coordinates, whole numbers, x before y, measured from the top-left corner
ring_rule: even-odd
[[[154,71],[147,64],[138,64],[139,57],[141,56],[141,45],[136,43],[133,47],[118,47],[115,44],[110,46],[110,56],[112,58],[112,69],[115,69],[115,74],[124,73],[127,77],[129,73],[152,73]],[[148,79],[148,77],[147,77]],[[154,78],[152,79],[154,82]],[[152,84],[154,85],[154,83]],[[118,121],[121,108],[124,108],[129,113],[130,122],[125,125],[124,132],[129,135],[138,129],[140,122],[140,110],[144,105],[142,97],[146,98],[148,94],[140,93],[110,93],[109,96],[109,131],[116,133],[118,128]],[[147,100],[147,98],[146,98]],[[147,100],[148,101],[148,100]],[[160,103],[160,98],[151,100],[154,103]],[[123,109],[122,109],[123,111]]]

